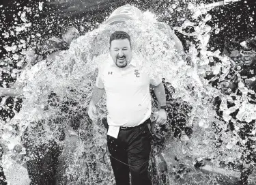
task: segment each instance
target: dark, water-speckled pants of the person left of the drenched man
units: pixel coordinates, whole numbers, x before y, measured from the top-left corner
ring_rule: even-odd
[[[34,128],[27,128],[23,134],[23,146],[26,148],[27,156],[31,159],[27,161],[27,171],[29,179],[31,180],[30,185],[55,185],[57,167],[59,165],[59,156],[62,152],[62,147],[52,141],[49,145],[34,145],[33,140],[44,139],[44,124],[59,125],[62,124],[63,119],[48,119],[40,120],[36,123]],[[38,138],[36,137],[38,136]],[[42,138],[40,138],[42,136]],[[55,133],[57,141],[63,141],[65,133],[63,128],[59,128],[58,132]],[[33,156],[33,157],[32,157]]]

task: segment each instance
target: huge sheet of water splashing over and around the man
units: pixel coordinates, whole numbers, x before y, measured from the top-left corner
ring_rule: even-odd
[[[145,12],[139,19],[126,20],[125,24],[100,25],[98,29],[86,33],[72,42],[68,51],[61,51],[51,66],[42,62],[40,65],[28,69],[25,78],[27,83],[24,88],[23,108],[10,122],[1,125],[1,129],[4,130],[2,138],[8,147],[3,158],[5,171],[12,166],[8,163],[10,158],[15,158],[21,165],[24,165],[29,158],[38,158],[46,152],[38,151],[39,154],[30,154],[29,158],[25,159],[20,158],[20,155],[25,153],[24,148],[20,154],[13,152],[14,147],[22,143],[23,134],[30,130],[29,139],[35,148],[42,145],[47,148],[53,141],[64,145],[65,168],[62,171],[63,177],[60,177],[61,183],[113,184],[114,179],[109,160],[106,161],[106,165],[99,162],[106,145],[106,131],[100,121],[91,123],[86,110],[96,81],[98,66],[108,57],[109,36],[116,30],[126,31],[130,34],[134,57],[139,58],[141,70],[153,78],[156,76],[165,78],[165,81],[169,82],[167,87],[171,88],[172,86],[175,89],[173,98],[188,102],[191,107],[187,122],[188,126],[194,126],[191,140],[195,150],[189,152],[190,157],[193,159],[210,158],[214,165],[218,165],[220,161],[239,160],[240,149],[235,146],[239,139],[238,135],[231,137],[230,133],[221,132],[223,145],[218,150],[213,146],[216,134],[212,128],[212,122],[216,123],[219,128],[225,128],[227,125],[216,119],[218,116],[212,106],[212,98],[223,97],[222,109],[226,115],[224,118],[226,122],[231,119],[229,115],[232,111],[227,109],[227,102],[225,102],[227,96],[209,85],[209,81],[205,80],[203,75],[205,71],[212,70],[208,65],[209,58],[217,57],[221,59],[221,63],[214,70],[218,73],[222,68],[219,77],[221,81],[229,72],[230,62],[227,57],[221,56],[219,51],[213,53],[207,50],[211,27],[206,23],[211,16],[205,12],[195,11],[193,17],[198,18],[199,16],[201,16],[199,23],[186,20],[182,27],[175,28],[184,35],[195,36],[200,41],[199,46],[190,46],[188,55],[192,59],[191,65],[184,61],[183,53],[178,53],[175,50],[175,42],[169,27],[165,27],[165,23],[158,23],[150,12]],[[194,27],[195,31],[186,33],[184,31],[186,27]],[[199,48],[201,49],[200,57],[197,55]],[[244,87],[240,85],[240,89],[242,88]],[[245,89],[244,94],[247,91]],[[49,98],[50,94],[53,96]],[[51,106],[48,105],[49,101]],[[246,109],[248,106],[246,100],[236,104],[237,109],[240,106]],[[105,98],[100,100],[98,108],[99,117],[104,117],[106,115]],[[156,104],[154,104],[153,110],[157,111]],[[253,115],[256,111],[255,106],[250,110],[254,112],[249,111],[247,116],[242,115],[242,120],[250,122],[255,119],[255,114]],[[76,134],[68,134],[66,129],[68,139],[60,141],[59,130],[68,128],[68,124],[74,120],[74,117],[79,117],[80,128],[77,131],[79,139]],[[44,121],[42,122],[42,120]],[[54,122],[58,120],[59,124],[53,124],[53,120],[55,120]],[[42,129],[36,128],[38,122],[41,122]],[[74,143],[71,142],[72,138]],[[171,167],[177,163],[173,160],[175,156],[179,156],[179,160],[184,160],[186,155],[181,155],[180,143],[169,138],[164,151],[167,165]],[[70,143],[67,143],[68,141]],[[195,175],[195,173],[197,172],[190,174]],[[171,177],[170,181],[172,181]],[[212,184],[214,182],[214,180],[211,181]],[[175,184],[175,182],[172,183]]]

